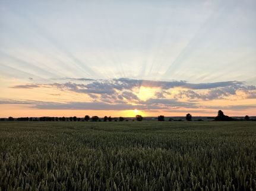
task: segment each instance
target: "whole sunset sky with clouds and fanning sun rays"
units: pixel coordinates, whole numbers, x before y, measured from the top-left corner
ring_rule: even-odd
[[[255,116],[255,10],[0,0],[0,116]]]

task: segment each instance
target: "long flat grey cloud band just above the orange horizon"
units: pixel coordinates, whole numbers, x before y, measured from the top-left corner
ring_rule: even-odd
[[[136,105],[124,101],[115,101],[112,103],[106,101],[97,102],[43,102],[35,100],[0,100],[0,104],[22,104],[35,109],[74,109],[74,110],[134,110],[141,111],[164,111],[164,112],[205,112],[215,113],[217,110],[236,110],[245,111],[246,109],[256,108],[254,105],[229,105],[229,106],[204,106],[194,102],[180,102],[175,99],[148,99],[140,101]],[[209,110],[210,109],[210,110]]]

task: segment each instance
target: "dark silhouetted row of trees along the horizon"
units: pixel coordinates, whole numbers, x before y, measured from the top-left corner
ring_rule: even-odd
[[[192,115],[187,114],[185,116],[185,119],[187,121],[193,121]],[[21,118],[0,118],[0,121],[143,121],[143,116],[136,115],[134,119],[127,118],[120,116],[119,118],[112,118],[111,116],[104,116],[103,118],[99,118],[99,116],[89,116],[86,115],[84,118],[78,118],[77,116],[70,116],[70,117],[49,117],[49,116],[42,116],[39,118],[32,118],[32,117],[21,117]],[[168,118],[166,120],[164,115],[159,115],[157,117],[157,121],[183,121],[182,119],[173,119]],[[203,119],[195,119],[194,121],[203,121]],[[230,116],[224,115],[223,111],[219,110],[217,116],[213,118],[213,121],[256,121],[256,118],[250,118],[248,115],[246,115],[244,118],[232,118]]]

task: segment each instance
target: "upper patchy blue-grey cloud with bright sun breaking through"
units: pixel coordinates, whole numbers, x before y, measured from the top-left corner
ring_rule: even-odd
[[[74,79],[65,77],[62,79]],[[214,83],[188,83],[186,81],[157,81],[157,80],[137,80],[137,79],[85,79],[79,78],[81,83],[48,83],[37,84],[29,83],[26,85],[12,86],[11,88],[31,89],[31,88],[56,88],[59,90],[68,90],[76,93],[85,93],[93,99],[100,99],[108,103],[124,101],[138,102],[140,99],[134,93],[134,89],[141,86],[147,88],[159,88],[154,93],[155,98],[165,99],[187,99],[189,101],[204,101],[213,99],[225,99],[229,96],[236,96],[238,92],[244,95],[244,98],[256,98],[256,87],[246,86],[244,82],[227,81]],[[172,89],[178,88],[175,92]]]

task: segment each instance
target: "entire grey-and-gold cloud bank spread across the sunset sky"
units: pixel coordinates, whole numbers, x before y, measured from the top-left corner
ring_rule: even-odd
[[[84,102],[38,102],[38,101],[2,101],[0,103],[31,104],[38,109],[93,109],[93,110],[127,110],[127,109],[182,109],[206,108],[199,102],[217,99],[254,99],[256,87],[246,86],[245,82],[227,81],[214,83],[189,83],[180,81],[137,80],[137,79],[72,79],[64,83],[28,83],[15,85],[12,89],[55,89],[61,92],[74,92],[87,95],[91,101]],[[57,79],[56,79],[57,80]],[[72,81],[71,81],[72,80]],[[75,82],[74,82],[75,81]],[[77,83],[77,81],[79,83]],[[146,92],[141,93],[141,89]],[[143,90],[144,90],[143,89]],[[150,91],[150,92],[147,92]],[[151,93],[151,96],[148,96]],[[152,94],[153,93],[153,94]],[[48,93],[48,95],[61,95]],[[143,98],[146,99],[143,99]],[[254,106],[236,106],[245,109]],[[207,107],[211,109],[211,107]],[[229,106],[232,108],[232,106]]]

